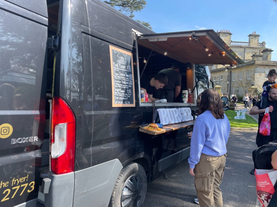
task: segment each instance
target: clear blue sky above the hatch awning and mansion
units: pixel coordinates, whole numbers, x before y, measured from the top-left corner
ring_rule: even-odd
[[[248,42],[256,31],[277,61],[277,4],[271,0],[147,0],[146,6],[134,19],[149,22],[156,33],[222,29],[233,41]]]

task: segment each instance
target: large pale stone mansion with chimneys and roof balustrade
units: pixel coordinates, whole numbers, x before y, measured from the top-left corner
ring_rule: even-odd
[[[264,41],[259,43],[260,35],[256,32],[248,35],[248,42],[232,41],[232,34],[228,30],[217,31],[217,34],[245,62],[232,69],[223,68],[223,65],[212,66],[210,70],[212,79],[214,83],[218,82],[218,85],[222,87],[221,92],[243,96],[245,93],[256,94],[257,88],[262,90],[264,81],[268,80],[268,71],[270,69],[277,71],[277,61],[271,61],[273,50],[266,48]]]

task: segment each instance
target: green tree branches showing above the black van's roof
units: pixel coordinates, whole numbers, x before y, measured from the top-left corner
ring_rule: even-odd
[[[134,18],[134,12],[140,12],[143,8],[146,7],[147,4],[145,0],[103,0],[103,2],[109,4],[111,7],[117,8],[119,11],[131,18]],[[140,20],[136,21],[148,27],[149,29],[152,29],[149,22]]]

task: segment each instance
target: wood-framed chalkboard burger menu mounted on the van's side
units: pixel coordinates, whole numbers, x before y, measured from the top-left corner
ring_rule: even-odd
[[[135,106],[132,53],[110,45],[112,106]]]

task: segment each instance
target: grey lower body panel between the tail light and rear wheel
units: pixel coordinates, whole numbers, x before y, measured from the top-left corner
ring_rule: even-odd
[[[123,168],[118,159],[75,172],[73,207],[108,206],[118,174]]]

